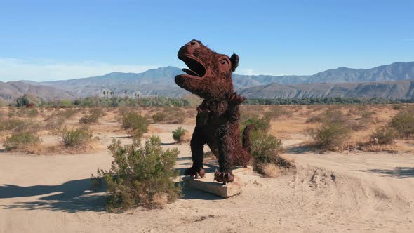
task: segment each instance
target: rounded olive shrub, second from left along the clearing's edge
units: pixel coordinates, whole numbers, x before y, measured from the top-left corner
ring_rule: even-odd
[[[92,140],[92,133],[87,127],[68,130],[60,133],[61,143],[65,147],[85,147]]]

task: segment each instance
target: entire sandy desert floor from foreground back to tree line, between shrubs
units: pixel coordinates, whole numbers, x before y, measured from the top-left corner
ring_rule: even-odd
[[[407,107],[407,106],[406,106]],[[162,208],[137,207],[121,213],[105,211],[105,193],[91,192],[91,174],[109,169],[112,139],[131,143],[119,122],[119,108],[107,108],[97,123],[88,124],[98,143],[84,150],[60,149],[53,128],[39,132],[41,142],[30,152],[0,151],[0,232],[413,232],[414,141],[398,139],[387,146],[368,145],[370,134],[386,125],[399,110],[392,105],[243,105],[242,113],[264,114],[281,108],[271,121],[269,133],[281,139],[282,156],[295,164],[295,171],[266,178],[246,169],[242,192],[227,199],[182,188],[182,197]],[[361,112],[371,114],[364,126],[353,131],[347,147],[322,152],[312,147],[309,128],[312,116],[335,108],[352,121]],[[6,116],[11,107],[2,107]],[[132,109],[146,116],[161,107]],[[19,114],[19,111],[22,114]],[[18,109],[15,118],[31,118],[41,124],[56,112],[42,108],[36,116]],[[80,109],[65,120],[69,128],[81,126]],[[150,135],[159,135],[164,149],[177,147],[176,168],[191,166],[189,142],[178,144],[171,131],[182,126],[192,133],[195,108],[183,108],[180,124],[154,123]],[[1,141],[7,135],[1,135]],[[208,147],[205,147],[208,152]],[[216,166],[214,157],[206,166]],[[213,182],[213,180],[210,180]]]

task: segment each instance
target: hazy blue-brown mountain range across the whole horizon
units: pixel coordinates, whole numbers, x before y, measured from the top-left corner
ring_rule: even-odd
[[[182,74],[178,67],[159,67],[139,74],[114,72],[102,76],[61,81],[0,82],[0,98],[13,100],[29,93],[45,100],[73,99],[102,95],[165,95],[180,97],[188,94],[174,83]],[[247,98],[414,98],[414,62],[395,62],[372,69],[340,67],[314,75],[271,76],[233,74],[236,91]]]

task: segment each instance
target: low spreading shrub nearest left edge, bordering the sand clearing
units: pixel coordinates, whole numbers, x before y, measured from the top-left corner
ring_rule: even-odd
[[[32,146],[36,146],[41,142],[38,135],[32,133],[13,133],[4,140],[4,148],[6,150],[22,150]]]

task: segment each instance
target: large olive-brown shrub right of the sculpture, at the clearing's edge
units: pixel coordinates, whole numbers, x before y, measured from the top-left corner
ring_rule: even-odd
[[[345,124],[329,121],[309,131],[317,147],[330,150],[342,149],[349,134],[350,129]]]

